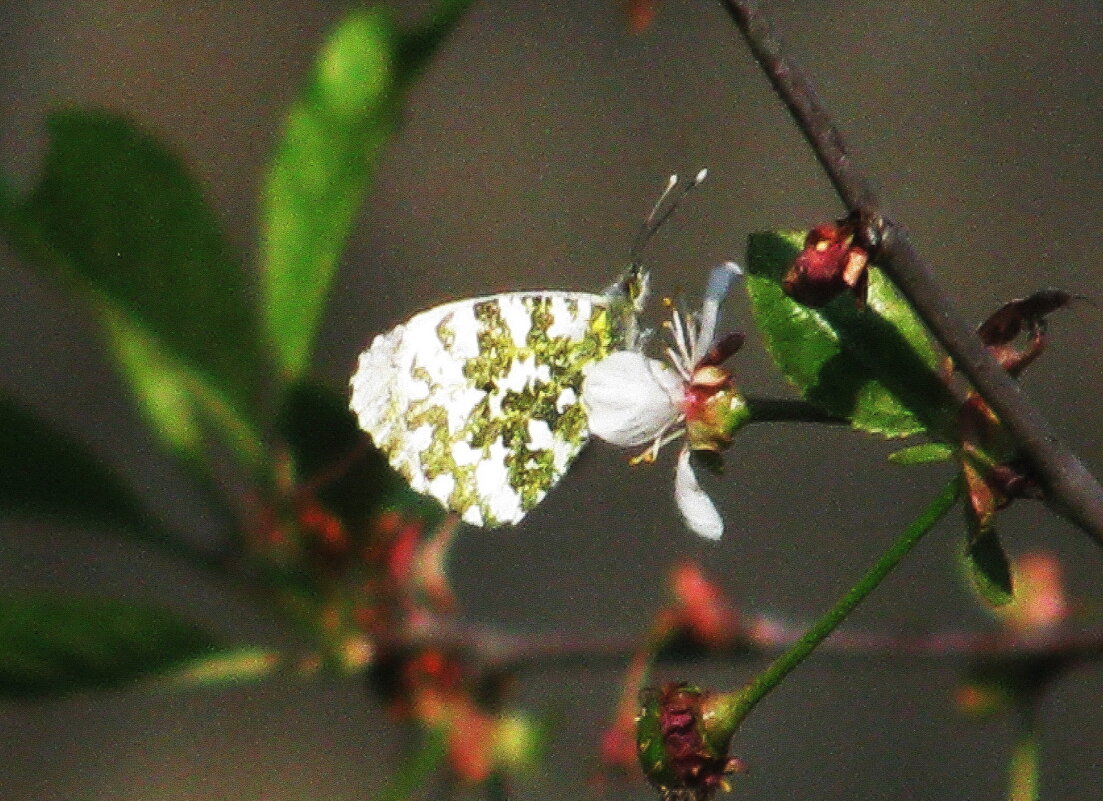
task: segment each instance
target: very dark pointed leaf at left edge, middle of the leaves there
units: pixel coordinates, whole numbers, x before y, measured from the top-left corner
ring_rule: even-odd
[[[0,511],[118,526],[146,540],[160,527],[115,471],[65,431],[0,397]]]

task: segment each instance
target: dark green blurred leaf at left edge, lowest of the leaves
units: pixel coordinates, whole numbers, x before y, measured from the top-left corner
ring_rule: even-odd
[[[0,596],[0,696],[119,686],[216,648],[213,638],[152,606],[44,594]]]

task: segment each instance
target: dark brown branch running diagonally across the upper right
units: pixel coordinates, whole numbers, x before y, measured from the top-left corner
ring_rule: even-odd
[[[881,231],[877,264],[885,268],[920,317],[953,356],[988,405],[999,415],[1050,504],[1103,545],[1103,488],[1058,438],[981,343],[904,229],[890,222],[869,182],[850,159],[843,137],[812,82],[784,55],[780,39],[753,0],[724,0],[759,65],[789,108],[846,207]]]

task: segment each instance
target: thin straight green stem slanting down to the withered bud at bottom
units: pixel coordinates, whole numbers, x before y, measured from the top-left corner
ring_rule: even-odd
[[[773,664],[760,673],[743,690],[730,693],[717,699],[716,715],[730,727],[731,731],[739,726],[747,714],[754,708],[765,695],[803,662],[827,637],[854,611],[866,596],[888,576],[900,560],[915,546],[942,516],[953,508],[961,495],[961,480],[954,477],[923,512],[912,521],[904,532],[892,543],[880,559],[877,560],[861,579],[846,595],[838,599],[834,607],[808,629],[804,637],[781,654]]]

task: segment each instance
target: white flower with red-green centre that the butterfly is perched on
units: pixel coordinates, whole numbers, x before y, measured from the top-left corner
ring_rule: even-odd
[[[720,301],[738,275],[733,261],[713,270],[699,314],[673,309],[670,364],[638,351],[617,351],[591,364],[582,383],[590,434],[623,448],[649,446],[633,463],[654,461],[660,448],[685,437],[674,496],[686,525],[709,540],[719,540],[724,521],[694,474],[690,453],[719,451],[747,420],[742,396],[719,366],[742,344],[742,334],[716,340]]]

